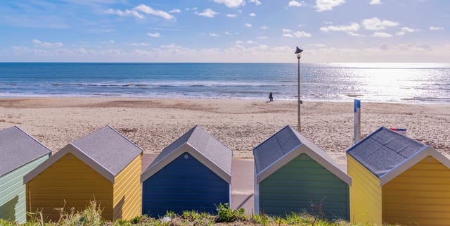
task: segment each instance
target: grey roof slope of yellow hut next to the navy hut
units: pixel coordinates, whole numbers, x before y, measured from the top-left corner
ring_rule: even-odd
[[[142,153],[139,146],[109,125],[77,139],[72,144],[113,175],[117,175]]]

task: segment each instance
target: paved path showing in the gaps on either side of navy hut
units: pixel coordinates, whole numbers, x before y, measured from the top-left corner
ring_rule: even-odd
[[[142,156],[142,172],[155,160],[158,153]],[[233,158],[231,161],[231,208],[245,208],[245,213],[254,212],[253,199],[253,159]]]

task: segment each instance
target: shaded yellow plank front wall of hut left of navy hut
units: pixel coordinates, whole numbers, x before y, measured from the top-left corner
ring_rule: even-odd
[[[113,220],[113,184],[71,153],[27,183],[27,211],[42,211],[45,220],[58,220],[55,208],[82,211],[95,199],[105,220]]]

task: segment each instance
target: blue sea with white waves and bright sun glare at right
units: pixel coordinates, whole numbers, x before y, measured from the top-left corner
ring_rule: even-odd
[[[301,63],[304,101],[450,103],[449,63]],[[0,63],[0,97],[297,99],[297,63]]]

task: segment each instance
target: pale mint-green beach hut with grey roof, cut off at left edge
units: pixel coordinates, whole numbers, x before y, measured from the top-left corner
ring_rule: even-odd
[[[0,218],[26,222],[23,176],[50,156],[50,149],[19,127],[0,130]]]

